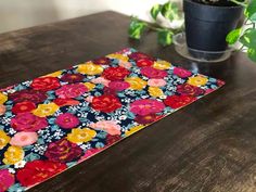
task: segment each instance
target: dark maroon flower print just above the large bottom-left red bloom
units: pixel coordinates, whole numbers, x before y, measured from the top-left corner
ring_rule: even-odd
[[[52,162],[67,163],[80,157],[82,150],[77,144],[62,139],[48,145],[44,156]]]

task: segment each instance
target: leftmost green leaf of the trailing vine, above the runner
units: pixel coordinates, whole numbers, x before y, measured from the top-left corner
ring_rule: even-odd
[[[146,24],[144,22],[139,21],[138,18],[131,18],[131,23],[129,26],[129,37],[133,39],[140,39],[142,33],[145,29]]]

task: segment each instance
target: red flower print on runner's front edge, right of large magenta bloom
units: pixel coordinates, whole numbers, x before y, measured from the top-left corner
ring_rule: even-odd
[[[196,99],[190,95],[169,95],[165,99],[165,104],[171,108],[179,108],[189,103],[192,103]]]

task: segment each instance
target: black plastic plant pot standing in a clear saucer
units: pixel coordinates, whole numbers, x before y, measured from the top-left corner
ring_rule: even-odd
[[[207,5],[193,0],[183,0],[185,36],[190,53],[195,57],[206,56],[205,52],[221,52],[228,47],[226,36],[234,29],[243,12],[240,5]],[[221,54],[209,54],[208,59]],[[215,57],[213,57],[215,56]]]

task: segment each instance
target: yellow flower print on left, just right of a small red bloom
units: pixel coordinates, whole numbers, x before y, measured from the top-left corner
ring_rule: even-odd
[[[55,103],[39,104],[36,110],[33,111],[34,115],[39,117],[46,117],[53,115],[59,110]]]

